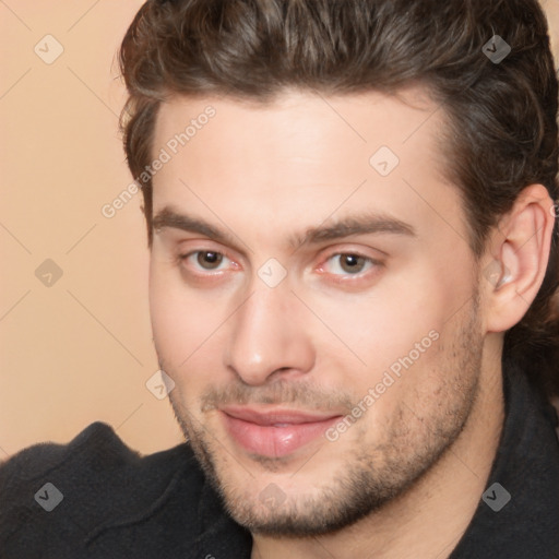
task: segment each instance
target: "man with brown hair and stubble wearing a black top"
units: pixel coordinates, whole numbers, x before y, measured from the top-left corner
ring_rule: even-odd
[[[188,442],[23,451],[0,555],[559,558],[536,2],[150,0],[121,67]]]

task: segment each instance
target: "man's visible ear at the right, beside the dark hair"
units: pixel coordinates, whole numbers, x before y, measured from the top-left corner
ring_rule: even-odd
[[[555,218],[547,189],[532,185],[490,235],[480,280],[487,332],[514,326],[536,298],[549,260]]]

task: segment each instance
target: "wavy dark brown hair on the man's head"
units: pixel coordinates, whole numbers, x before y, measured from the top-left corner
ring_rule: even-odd
[[[497,63],[484,53],[495,35],[512,49]],[[150,0],[120,66],[134,177],[151,162],[157,110],[173,94],[267,102],[288,87],[396,94],[423,84],[449,117],[447,174],[476,255],[524,187],[543,183],[559,199],[558,86],[536,0]],[[151,178],[141,186],[151,243]],[[559,394],[558,236],[556,222],[544,284],[503,352],[506,366],[549,395]]]

